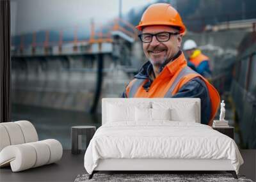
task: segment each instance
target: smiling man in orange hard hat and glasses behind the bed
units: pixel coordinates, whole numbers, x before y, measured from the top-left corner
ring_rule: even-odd
[[[122,95],[124,98],[200,98],[201,123],[212,125],[218,91],[188,67],[180,50],[186,31],[179,13],[166,3],[148,6],[137,26],[147,63],[143,64]]]

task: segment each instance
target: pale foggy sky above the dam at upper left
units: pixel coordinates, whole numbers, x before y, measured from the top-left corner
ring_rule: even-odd
[[[154,0],[122,0],[122,13],[131,8],[154,3]],[[45,29],[90,26],[118,17],[119,0],[11,0],[11,29],[13,34],[31,33]]]

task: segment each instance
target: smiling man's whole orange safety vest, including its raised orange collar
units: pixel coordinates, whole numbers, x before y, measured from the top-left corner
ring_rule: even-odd
[[[218,107],[220,105],[220,95],[218,91],[212,86],[204,77],[194,72],[187,66],[184,54],[180,54],[177,59],[166,64],[163,70],[152,82],[150,89],[146,91],[143,88],[147,79],[133,79],[126,87],[128,98],[171,98],[179,89],[184,86],[189,80],[200,77],[204,80],[205,85],[209,91],[211,100],[211,119],[208,125],[212,125]]]

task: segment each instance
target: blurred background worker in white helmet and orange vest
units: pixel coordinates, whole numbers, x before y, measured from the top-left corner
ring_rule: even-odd
[[[206,79],[210,79],[211,70],[209,57],[202,54],[195,41],[190,39],[186,40],[183,45],[183,50],[186,51],[186,54],[188,54],[188,66]]]

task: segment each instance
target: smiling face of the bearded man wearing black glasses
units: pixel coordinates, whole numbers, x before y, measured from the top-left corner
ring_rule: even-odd
[[[178,30],[170,26],[148,26],[144,27],[142,33],[156,34],[159,32],[177,33]],[[150,63],[154,67],[160,67],[166,60],[172,59],[179,51],[181,45],[181,35],[171,35],[167,42],[158,42],[153,36],[152,42],[143,43],[143,51]]]

